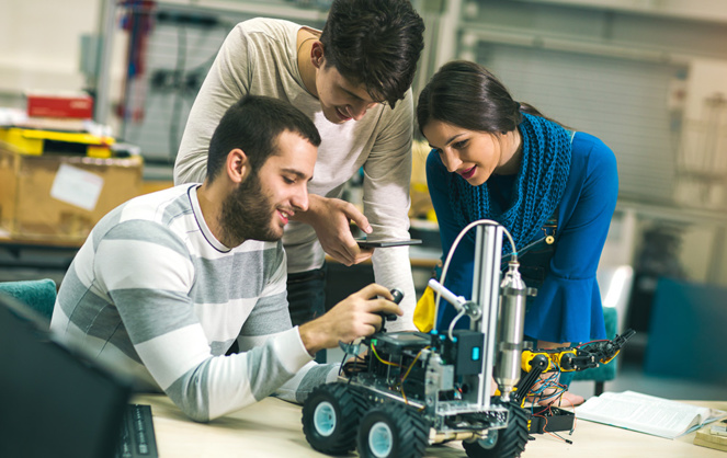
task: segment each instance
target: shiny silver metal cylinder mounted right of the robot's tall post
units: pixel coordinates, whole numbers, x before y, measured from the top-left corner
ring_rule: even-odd
[[[510,392],[520,380],[526,294],[527,288],[518,271],[518,263],[511,262],[500,284],[498,352],[495,364],[495,381],[504,401],[510,399]]]

